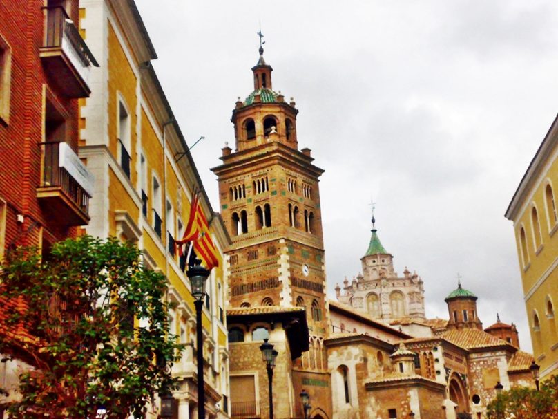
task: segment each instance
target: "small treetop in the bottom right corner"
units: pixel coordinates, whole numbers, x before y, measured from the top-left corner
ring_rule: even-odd
[[[488,404],[488,418],[558,418],[558,375],[541,383],[541,390],[514,387]]]

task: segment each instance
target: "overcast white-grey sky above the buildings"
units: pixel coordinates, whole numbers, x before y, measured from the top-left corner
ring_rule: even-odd
[[[153,64],[215,210],[258,22],[273,89],[300,110],[320,181],[329,294],[360,270],[371,197],[380,239],[424,280],[427,315],[463,287],[530,351],[512,223],[503,214],[558,112],[558,2],[137,0]]]

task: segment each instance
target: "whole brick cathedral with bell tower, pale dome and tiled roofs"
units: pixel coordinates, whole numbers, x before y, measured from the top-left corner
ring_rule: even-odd
[[[497,384],[533,386],[532,355],[519,350],[515,327],[498,318],[483,330],[477,296],[461,282],[448,290],[448,319],[426,317],[423,280],[407,268],[398,275],[374,217],[362,272],[336,286],[337,301],[327,298],[323,169],[299,149],[296,103],[273,90],[261,45],[259,52],[253,90],[233,109],[235,147],[225,145],[212,169],[232,241],[226,413],[483,419]],[[276,355],[271,377],[264,342]]]

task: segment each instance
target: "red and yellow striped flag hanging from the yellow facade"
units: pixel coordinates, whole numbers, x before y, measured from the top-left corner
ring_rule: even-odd
[[[202,259],[207,269],[211,270],[215,266],[219,266],[218,252],[211,240],[209,225],[204,216],[202,204],[198,199],[197,192],[195,192],[193,196],[184,236],[182,236],[182,239],[176,241],[180,256],[183,255],[182,246],[189,242],[193,242],[195,253]]]

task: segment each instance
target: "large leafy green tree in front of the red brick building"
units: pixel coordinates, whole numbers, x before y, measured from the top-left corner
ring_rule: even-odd
[[[165,290],[140,250],[116,239],[68,239],[46,260],[30,248],[10,252],[0,301],[17,304],[4,304],[12,333],[0,333],[0,353],[33,367],[20,376],[20,400],[5,403],[10,417],[95,418],[99,407],[106,418],[143,417],[172,387],[182,351],[167,335]]]

